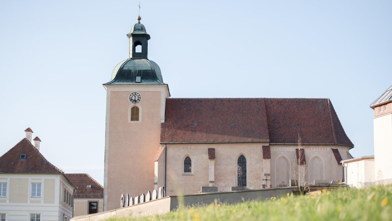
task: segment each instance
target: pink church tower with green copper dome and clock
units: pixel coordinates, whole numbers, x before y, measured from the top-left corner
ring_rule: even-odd
[[[140,195],[154,188],[153,158],[160,146],[168,85],[159,66],[147,58],[143,24],[133,25],[129,58],[113,70],[107,90],[104,210],[120,207],[122,193]]]

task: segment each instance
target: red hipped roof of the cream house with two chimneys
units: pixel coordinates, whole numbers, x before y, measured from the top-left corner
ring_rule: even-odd
[[[26,159],[20,159],[26,154]],[[0,157],[0,173],[60,173],[63,172],[52,165],[24,138],[15,147]]]

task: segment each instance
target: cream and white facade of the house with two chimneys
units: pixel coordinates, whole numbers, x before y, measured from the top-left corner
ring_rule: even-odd
[[[0,198],[0,213],[6,213],[6,220],[30,220],[31,213],[40,213],[41,220],[63,220],[63,214],[65,213],[68,218],[72,218],[71,209],[63,209],[59,204],[60,199],[60,177],[59,174],[0,174],[0,182],[5,180],[8,181],[7,185],[7,197]],[[10,202],[10,192],[14,192],[12,188],[15,186],[10,185],[11,179],[26,179],[28,180],[26,187],[28,188],[27,202]],[[45,179],[54,179],[54,202],[45,203],[44,192],[45,192]],[[31,182],[42,182],[41,184],[41,196],[40,198],[31,197]],[[51,187],[53,190],[53,188]],[[52,200],[51,200],[52,201]]]

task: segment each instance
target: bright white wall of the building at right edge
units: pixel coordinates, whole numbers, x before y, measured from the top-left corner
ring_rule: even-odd
[[[374,118],[374,175],[378,183],[392,183],[392,113]]]

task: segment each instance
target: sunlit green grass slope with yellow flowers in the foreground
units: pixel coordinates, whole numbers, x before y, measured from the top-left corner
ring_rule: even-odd
[[[323,191],[321,195],[219,202],[164,214],[107,220],[392,220],[392,185]]]

